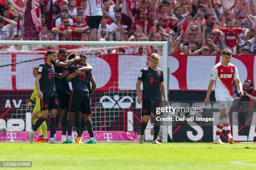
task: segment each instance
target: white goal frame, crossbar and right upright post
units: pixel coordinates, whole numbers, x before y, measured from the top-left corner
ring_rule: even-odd
[[[166,87],[166,97],[168,97],[168,71],[167,71],[167,57],[168,57],[168,46],[166,41],[16,41],[16,40],[3,40],[0,41],[0,45],[42,45],[42,46],[51,46],[51,45],[84,45],[84,46],[111,46],[111,47],[118,47],[118,46],[161,46],[161,69],[164,72],[164,84]],[[34,51],[36,52],[36,51]],[[0,63],[3,65],[3,63]],[[145,65],[146,66],[146,65]],[[93,65],[92,65],[93,67]],[[139,73],[139,72],[138,72]],[[137,79],[137,77],[135,77]],[[1,81],[1,80],[0,80]],[[134,84],[134,86],[136,86]],[[162,127],[162,140],[163,142],[167,142],[168,138],[168,127]]]

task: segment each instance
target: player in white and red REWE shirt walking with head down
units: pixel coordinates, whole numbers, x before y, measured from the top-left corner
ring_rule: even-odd
[[[208,105],[210,102],[210,93],[212,91],[212,86],[215,82],[215,98],[220,111],[220,116],[217,123],[216,136],[213,141],[213,143],[215,144],[224,144],[220,140],[220,134],[223,130],[223,127],[228,135],[228,142],[230,144],[234,143],[234,138],[232,137],[230,132],[230,123],[228,117],[228,112],[233,101],[233,80],[235,80],[236,82],[240,96],[243,96],[243,87],[242,83],[239,80],[238,70],[235,65],[230,63],[231,55],[232,51],[230,49],[225,48],[223,50],[222,61],[212,68],[212,75],[209,82],[207,95],[205,97],[205,105]]]

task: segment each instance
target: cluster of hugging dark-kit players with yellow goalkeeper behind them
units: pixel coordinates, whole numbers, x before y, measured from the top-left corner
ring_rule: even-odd
[[[36,107],[32,114],[34,126],[29,133],[29,142],[33,143],[36,130],[39,133],[36,142],[48,142],[45,120],[49,114],[49,143],[57,143],[56,128],[59,125],[60,115],[62,118],[61,143],[72,143],[73,124],[77,131],[76,143],[82,143],[82,133],[85,127],[90,135],[90,139],[85,143],[97,143],[90,120],[90,96],[96,88],[96,82],[92,75],[92,66],[86,63],[87,56],[73,52],[67,60],[65,48],[59,49],[58,60],[55,50],[48,50],[46,55],[46,62],[40,64],[37,70],[33,68],[33,75],[36,77],[35,89],[27,106],[29,107],[31,100],[36,98]],[[69,88],[69,81],[72,82],[72,92]],[[90,82],[92,82],[92,87]],[[80,121],[81,114],[82,120]],[[67,139],[66,132],[68,133]]]

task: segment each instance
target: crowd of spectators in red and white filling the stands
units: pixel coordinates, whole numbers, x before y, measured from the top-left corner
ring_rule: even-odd
[[[132,25],[122,24],[123,0],[101,0],[100,41],[167,41],[172,54],[220,54],[228,47],[233,54],[256,54],[256,0],[236,0],[224,10],[216,0],[130,0]],[[90,41],[87,0],[53,0],[54,28],[46,18],[51,0],[41,0],[42,40]],[[0,39],[22,39],[22,24],[7,8],[2,9]],[[128,28],[131,26],[131,29]],[[15,48],[15,46],[13,47]],[[154,52],[147,47],[148,52]],[[125,53],[140,53],[140,47]]]

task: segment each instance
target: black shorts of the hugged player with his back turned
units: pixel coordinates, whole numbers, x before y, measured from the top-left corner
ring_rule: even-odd
[[[78,112],[78,110],[81,110],[82,114],[91,114],[89,92],[75,89],[71,94],[69,111]]]

